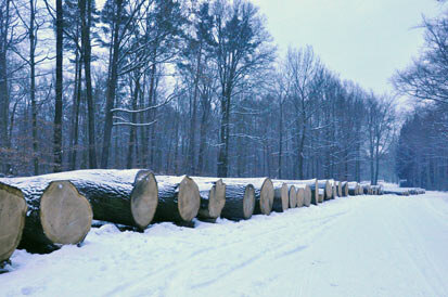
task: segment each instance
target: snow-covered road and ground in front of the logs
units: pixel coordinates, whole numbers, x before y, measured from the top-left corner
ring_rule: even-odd
[[[448,194],[357,196],[248,221],[92,229],[17,250],[0,296],[448,296]]]

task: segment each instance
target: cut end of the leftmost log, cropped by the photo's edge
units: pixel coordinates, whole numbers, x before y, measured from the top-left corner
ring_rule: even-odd
[[[0,262],[8,260],[21,242],[26,210],[22,192],[0,184]]]

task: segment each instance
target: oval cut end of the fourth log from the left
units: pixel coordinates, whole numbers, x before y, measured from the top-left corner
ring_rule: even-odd
[[[201,194],[197,184],[185,177],[179,185],[178,210],[184,221],[191,221],[196,217],[201,207]]]

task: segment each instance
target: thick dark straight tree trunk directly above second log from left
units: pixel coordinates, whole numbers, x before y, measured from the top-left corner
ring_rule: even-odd
[[[53,133],[53,171],[62,170],[62,88],[63,88],[63,8],[62,0],[56,0],[56,83]]]

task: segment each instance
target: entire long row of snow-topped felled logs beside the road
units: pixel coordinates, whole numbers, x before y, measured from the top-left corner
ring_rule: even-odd
[[[150,170],[77,170],[0,179],[0,263],[15,248],[47,253],[79,244],[92,220],[144,230],[151,222],[194,218],[246,220],[347,195],[417,195],[335,180],[218,179],[154,176]]]

